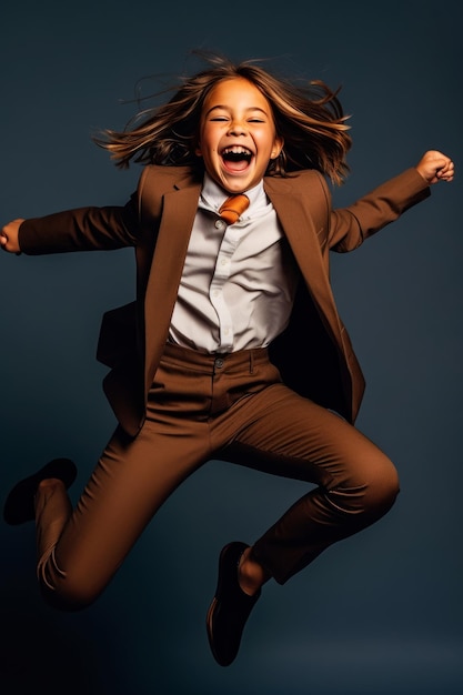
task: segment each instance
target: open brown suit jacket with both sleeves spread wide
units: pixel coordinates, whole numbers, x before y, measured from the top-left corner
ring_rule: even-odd
[[[271,359],[289,386],[354,422],[364,379],[334,303],[329,252],[356,249],[426,198],[429,187],[410,169],[334,211],[316,171],[265,178],[264,188],[304,281],[288,329],[270,348]],[[123,208],[64,211],[20,228],[20,246],[29,254],[134,246],[137,300],[104,315],[98,349],[98,359],[111,367],[105,394],[132,436],[143,423],[168,338],[200,191],[201,181],[188,168],[147,167]]]

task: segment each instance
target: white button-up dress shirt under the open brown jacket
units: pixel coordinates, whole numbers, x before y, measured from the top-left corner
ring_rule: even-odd
[[[269,345],[288,325],[296,271],[263,183],[246,191],[234,224],[219,218],[228,194],[207,174],[169,340],[207,353]]]

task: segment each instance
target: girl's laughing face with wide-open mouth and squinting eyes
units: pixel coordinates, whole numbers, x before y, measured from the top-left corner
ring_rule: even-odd
[[[230,78],[212,88],[202,107],[195,153],[219,185],[229,193],[251,189],[282,147],[270,103],[254,84]]]

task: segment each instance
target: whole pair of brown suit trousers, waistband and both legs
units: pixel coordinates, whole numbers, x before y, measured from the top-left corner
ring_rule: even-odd
[[[311,484],[253,544],[280,584],[380,518],[399,490],[391,461],[281,383],[266,350],[204,355],[168,344],[140,434],[117,429],[76,508],[62,483],[38,492],[46,598],[64,610],[91,603],[167,497],[213,459]]]

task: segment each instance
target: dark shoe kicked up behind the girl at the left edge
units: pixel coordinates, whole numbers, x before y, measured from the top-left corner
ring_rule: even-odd
[[[70,459],[53,459],[40,471],[24,477],[10,491],[3,506],[3,518],[10,526],[18,526],[36,518],[33,498],[41,481],[58,477],[70,487],[77,476],[77,469]]]

